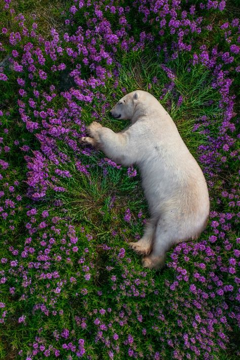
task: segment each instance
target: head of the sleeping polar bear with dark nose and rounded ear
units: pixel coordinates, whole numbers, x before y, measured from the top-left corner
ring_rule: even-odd
[[[132,119],[137,103],[139,101],[140,91],[133,91],[120,99],[110,110],[110,115],[116,119]]]

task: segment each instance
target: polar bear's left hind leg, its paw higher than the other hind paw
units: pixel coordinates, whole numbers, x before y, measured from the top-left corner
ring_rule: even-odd
[[[155,219],[149,219],[146,227],[144,229],[144,235],[136,243],[129,243],[130,248],[132,248],[138,254],[148,255],[152,250],[152,242],[154,233],[156,230],[156,221]]]

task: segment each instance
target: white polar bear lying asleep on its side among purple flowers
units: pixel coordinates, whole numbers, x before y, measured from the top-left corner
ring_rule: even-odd
[[[116,163],[139,167],[150,219],[143,237],[129,245],[145,255],[144,267],[157,269],[173,245],[197,238],[206,227],[206,180],[171,116],[154,96],[133,91],[110,114],[131,119],[131,125],[114,133],[93,122],[88,127],[90,137],[82,141],[101,149]]]

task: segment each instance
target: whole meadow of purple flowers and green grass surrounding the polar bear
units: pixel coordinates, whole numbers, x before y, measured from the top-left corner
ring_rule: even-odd
[[[0,0],[1,359],[239,358],[239,13]],[[124,129],[109,110],[136,89],[168,110],[211,200],[160,271],[128,247],[148,218],[138,168],[79,141],[92,121]]]

